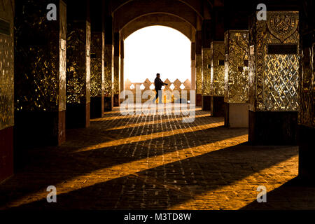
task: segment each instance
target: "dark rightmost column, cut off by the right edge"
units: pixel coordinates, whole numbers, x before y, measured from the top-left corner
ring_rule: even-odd
[[[315,179],[315,18],[314,1],[304,1],[300,13],[300,101],[299,176],[306,181]]]

